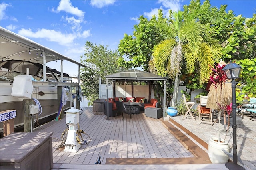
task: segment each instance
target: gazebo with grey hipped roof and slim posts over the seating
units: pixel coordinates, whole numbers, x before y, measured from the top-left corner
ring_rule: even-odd
[[[164,101],[166,103],[166,77],[161,77],[159,75],[149,73],[146,71],[138,70],[138,69],[130,69],[127,71],[121,71],[116,74],[105,76],[106,84],[107,84],[107,99],[108,99],[108,80],[113,81],[113,96],[115,96],[115,81],[131,81],[131,82],[150,82],[150,81],[164,81]],[[151,96],[151,83],[149,83],[149,97]],[[133,90],[132,90],[133,93]],[[108,101],[108,100],[107,100]],[[107,105],[108,107],[108,105]],[[165,113],[165,104],[163,108],[163,112]],[[165,115],[164,115],[165,116]],[[107,112],[107,119],[109,119],[109,113]]]

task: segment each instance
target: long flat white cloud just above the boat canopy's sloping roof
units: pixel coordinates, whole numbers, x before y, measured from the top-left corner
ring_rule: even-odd
[[[48,41],[57,42],[64,46],[72,44],[74,39],[77,37],[76,34],[62,34],[61,32],[44,28],[38,30],[37,32],[32,32],[31,29],[22,28],[18,31],[18,34],[24,37],[45,38]]]

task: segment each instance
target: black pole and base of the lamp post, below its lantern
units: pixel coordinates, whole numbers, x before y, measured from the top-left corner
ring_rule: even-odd
[[[244,168],[237,164],[237,144],[236,144],[236,81],[232,79],[232,116],[233,116],[233,163],[226,163],[226,167],[230,170],[244,170]]]

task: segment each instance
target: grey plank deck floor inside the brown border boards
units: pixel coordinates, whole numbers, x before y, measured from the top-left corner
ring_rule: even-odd
[[[92,107],[81,108],[80,129],[91,138],[78,152],[56,150],[60,145],[62,132],[66,129],[66,118],[52,121],[34,132],[53,133],[53,162],[61,164],[94,164],[101,156],[106,158],[188,158],[194,155],[170,134],[161,119],[145,117],[144,113],[110,117],[94,114]],[[59,140],[58,140],[59,139]],[[89,140],[89,138],[86,138]]]

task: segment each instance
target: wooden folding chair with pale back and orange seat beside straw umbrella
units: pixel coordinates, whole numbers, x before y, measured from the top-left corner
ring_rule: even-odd
[[[198,105],[199,124],[200,124],[201,121],[203,121],[203,118],[208,118],[210,123],[211,123],[211,125],[213,125],[213,122],[212,122],[212,109],[206,108],[207,99],[208,99],[208,96],[200,96],[200,103]]]

